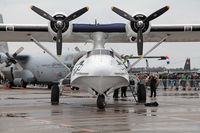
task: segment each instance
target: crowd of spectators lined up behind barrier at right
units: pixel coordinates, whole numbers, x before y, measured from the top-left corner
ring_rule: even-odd
[[[156,86],[164,90],[200,90],[200,75],[198,73],[163,73],[163,74],[137,74],[139,80],[144,80],[151,88],[151,75],[157,80]]]

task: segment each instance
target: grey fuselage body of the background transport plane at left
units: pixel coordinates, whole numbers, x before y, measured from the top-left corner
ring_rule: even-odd
[[[76,54],[75,52],[68,52],[60,60],[71,67]],[[18,71],[14,65],[1,70],[10,82],[22,79],[27,83],[49,84],[59,81],[69,73],[64,66],[47,54],[19,55],[17,60],[23,67],[23,72]]]

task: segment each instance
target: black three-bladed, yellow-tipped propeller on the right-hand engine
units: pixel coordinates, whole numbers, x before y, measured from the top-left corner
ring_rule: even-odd
[[[146,27],[145,26],[149,26],[149,22],[156,19],[157,17],[161,16],[162,14],[164,14],[170,7],[169,6],[165,6],[159,10],[157,10],[156,12],[152,13],[151,15],[149,15],[148,17],[144,17],[144,16],[136,16],[136,17],[132,17],[131,15],[129,15],[128,13],[120,10],[117,7],[111,7],[111,10],[114,11],[116,14],[120,15],[121,17],[131,21],[131,23],[134,25],[133,27],[135,28],[135,31],[137,32],[137,49],[138,49],[138,57],[142,57],[142,53],[143,53],[143,33],[145,32]],[[132,27],[132,28],[133,28]]]

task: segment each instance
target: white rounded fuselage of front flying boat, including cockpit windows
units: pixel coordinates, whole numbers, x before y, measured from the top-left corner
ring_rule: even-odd
[[[71,74],[71,86],[90,88],[98,94],[128,84],[129,76],[122,60],[106,49],[87,52],[75,64]]]

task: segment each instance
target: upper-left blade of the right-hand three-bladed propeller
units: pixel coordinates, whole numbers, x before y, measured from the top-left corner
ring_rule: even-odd
[[[122,10],[120,10],[120,9],[117,8],[117,7],[112,6],[112,7],[111,7],[111,10],[112,10],[113,12],[115,12],[116,14],[118,14],[119,16],[121,16],[121,17],[127,19],[127,20],[130,20],[130,21],[132,21],[132,22],[137,22],[131,15],[129,15],[128,13],[126,13],[126,12],[124,12],[124,11],[122,11]]]

